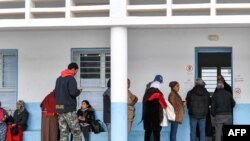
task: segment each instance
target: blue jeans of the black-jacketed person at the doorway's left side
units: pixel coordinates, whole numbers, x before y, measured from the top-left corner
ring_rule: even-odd
[[[196,127],[199,125],[200,141],[206,141],[206,118],[196,119],[190,117],[190,141],[196,141]]]

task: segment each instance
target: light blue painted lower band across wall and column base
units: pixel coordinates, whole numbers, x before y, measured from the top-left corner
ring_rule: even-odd
[[[40,112],[40,103],[26,103],[26,108],[30,113],[28,121],[28,131],[39,131],[41,129],[41,112]],[[112,103],[112,141],[143,141],[144,140],[144,129],[143,123],[140,123],[141,114],[142,114],[142,104],[136,104],[136,113],[134,122],[132,125],[132,131],[127,135],[127,109],[126,103]],[[248,104],[236,104],[234,108],[234,124],[245,124],[250,125],[250,103]],[[98,118],[102,119],[102,111],[96,111],[98,113]],[[121,122],[122,121],[122,122]],[[32,137],[27,132],[24,134],[24,141],[33,141],[34,138],[40,139],[40,133],[36,135],[32,133]],[[35,132],[36,133],[36,132]],[[161,131],[161,141],[169,141],[170,125],[162,128]],[[37,137],[39,135],[39,137]],[[28,137],[30,136],[30,137]],[[101,141],[107,140],[107,133],[101,134],[91,134],[91,141]],[[38,140],[39,141],[39,140]],[[190,141],[190,125],[189,125],[189,116],[188,110],[185,109],[184,121],[178,127],[177,132],[177,141]]]

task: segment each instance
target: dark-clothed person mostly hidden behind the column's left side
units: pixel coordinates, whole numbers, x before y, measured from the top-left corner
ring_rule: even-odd
[[[108,141],[111,141],[111,79],[107,82],[107,90],[103,93],[103,121],[108,130]]]

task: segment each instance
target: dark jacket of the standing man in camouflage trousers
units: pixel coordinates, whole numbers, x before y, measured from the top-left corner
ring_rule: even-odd
[[[76,111],[76,97],[81,93],[73,76],[59,77],[56,80],[55,99],[56,112],[68,113]]]

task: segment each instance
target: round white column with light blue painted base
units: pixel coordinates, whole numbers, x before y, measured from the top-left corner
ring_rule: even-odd
[[[111,141],[127,141],[127,28],[111,28]]]

